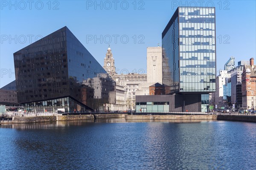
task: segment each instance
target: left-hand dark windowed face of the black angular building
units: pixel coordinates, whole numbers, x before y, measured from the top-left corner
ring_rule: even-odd
[[[15,52],[19,103],[67,96],[66,27]]]

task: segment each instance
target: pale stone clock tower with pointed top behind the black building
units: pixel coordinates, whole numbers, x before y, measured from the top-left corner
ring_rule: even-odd
[[[108,72],[110,76],[116,74],[115,68],[115,60],[113,59],[113,54],[111,52],[111,48],[108,45],[108,51],[106,53],[106,57],[104,58],[103,68]]]

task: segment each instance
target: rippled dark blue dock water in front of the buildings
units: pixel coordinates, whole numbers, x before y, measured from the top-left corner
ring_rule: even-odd
[[[70,121],[2,125],[1,170],[256,169],[256,123]]]

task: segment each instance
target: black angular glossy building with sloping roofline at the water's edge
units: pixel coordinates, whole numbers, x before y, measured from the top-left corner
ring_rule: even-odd
[[[114,90],[113,79],[66,26],[13,55],[25,109],[99,111]]]

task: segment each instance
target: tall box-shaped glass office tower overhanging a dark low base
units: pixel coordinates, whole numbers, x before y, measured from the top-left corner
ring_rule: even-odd
[[[215,8],[178,7],[162,33],[163,83],[170,94],[215,91]],[[166,67],[167,65],[167,67]]]

